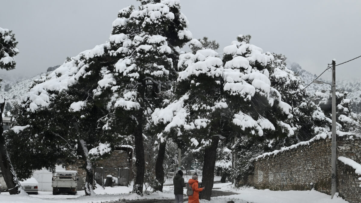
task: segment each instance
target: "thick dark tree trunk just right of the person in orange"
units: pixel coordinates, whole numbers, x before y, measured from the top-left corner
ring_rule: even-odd
[[[212,138],[212,143],[209,147],[205,148],[204,151],[204,164],[201,187],[205,187],[205,189],[202,191],[201,199],[210,200],[210,195],[212,195],[214,166],[216,165],[218,141],[219,137],[214,136]]]

